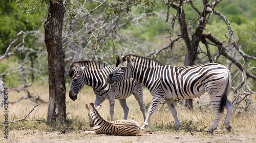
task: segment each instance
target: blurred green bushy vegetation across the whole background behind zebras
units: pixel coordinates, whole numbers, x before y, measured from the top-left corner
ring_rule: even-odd
[[[11,39],[16,38],[16,34],[19,31],[30,32],[37,31],[39,33],[43,33],[43,20],[46,16],[46,7],[47,1],[38,1],[38,3],[29,3],[30,5],[25,5],[28,2],[26,1],[5,1],[4,5],[1,5],[1,19],[2,26],[0,27],[1,33],[1,44],[0,44],[0,53],[3,55],[10,44]],[[197,8],[202,7],[199,3],[200,1],[193,2]],[[34,5],[40,4],[38,10],[33,9],[33,11],[29,11]],[[119,28],[119,32],[109,34],[109,36],[104,39],[102,44],[96,44],[93,40],[89,38],[88,40],[83,38],[83,35],[80,33],[76,35],[68,34],[72,31],[78,32],[80,28],[82,28],[82,21],[75,26],[74,30],[69,27],[69,23],[74,21],[74,19],[79,19],[81,16],[77,16],[79,11],[78,9],[83,1],[77,1],[74,3],[69,3],[66,7],[66,15],[65,15],[65,26],[63,28],[63,48],[66,51],[66,70],[68,70],[70,59],[73,60],[103,60],[110,65],[114,65],[114,56],[115,54],[129,54],[136,53],[138,55],[147,55],[148,53],[158,50],[166,45],[169,42],[169,34],[166,32],[166,17],[165,12],[167,6],[161,1],[150,2],[145,1],[143,4],[139,1],[134,1],[133,4],[130,4],[131,7],[127,10],[127,16],[124,16],[119,20],[120,23],[127,22],[127,19],[131,20],[132,18],[137,18],[133,22],[128,22]],[[142,4],[142,5],[141,5]],[[99,4],[97,2],[86,3],[83,7],[88,8],[88,10],[95,9]],[[126,3],[125,3],[126,5]],[[133,5],[133,6],[132,6]],[[255,23],[255,10],[253,1],[223,1],[219,5],[217,5],[216,9],[221,11],[230,21],[233,26],[234,34],[236,34],[237,39],[240,39],[239,45],[241,49],[245,51],[245,53],[250,54],[251,56],[255,56],[254,45],[255,45],[255,32],[253,30]],[[118,11],[116,9],[111,9],[113,6],[112,2],[108,2],[106,7],[109,8],[108,14],[105,16],[111,17],[112,14],[116,14]],[[21,8],[21,9],[19,9]],[[122,6],[118,6],[119,10]],[[104,8],[97,9],[95,15],[100,14]],[[197,15],[193,13],[190,6],[186,6],[184,8],[186,11],[186,17],[188,18],[188,22],[191,23],[191,29],[195,28],[197,25],[197,19],[194,17]],[[172,13],[176,13],[175,10],[170,9]],[[170,16],[172,17],[172,16]],[[108,19],[106,19],[108,20]],[[90,23],[90,21],[89,21]],[[12,26],[5,26],[12,25]],[[225,40],[226,43],[228,39],[225,37],[225,34],[228,32],[227,28],[222,19],[217,16],[212,15],[209,19],[209,23],[206,26],[206,31],[210,32],[217,39]],[[172,30],[173,38],[180,34],[179,27],[174,27]],[[67,36],[66,36],[67,35]],[[115,37],[113,37],[115,35]],[[67,39],[68,38],[68,39]],[[82,40],[84,39],[84,40]],[[20,48],[15,52],[15,58],[11,60],[12,66],[8,64],[6,65],[6,61],[2,61],[3,64],[0,65],[0,73],[5,72],[8,68],[12,68],[20,63],[24,63],[26,67],[31,67],[31,63],[33,63],[33,69],[38,69],[40,72],[36,72],[34,75],[35,80],[41,80],[47,78],[47,58],[38,58],[38,56],[46,57],[44,55],[38,55],[38,53],[28,50],[34,49],[36,51],[44,51],[46,52],[46,48],[44,45],[44,41],[42,38],[39,38],[39,35],[29,35],[25,37],[25,42],[23,44],[23,48]],[[19,39],[22,41],[22,38]],[[91,42],[90,42],[91,41]],[[69,44],[66,44],[69,43]],[[70,45],[72,44],[72,46]],[[83,44],[81,44],[83,43]],[[12,47],[17,45],[18,42],[14,43]],[[95,45],[96,44],[96,45]],[[80,49],[79,47],[82,46]],[[203,46],[200,44],[200,46]],[[27,48],[27,49],[26,49]],[[77,49],[82,51],[77,51]],[[83,52],[87,51],[87,52]],[[218,51],[218,48],[215,46],[210,46],[211,53],[215,53]],[[74,57],[76,52],[83,53],[82,55],[78,55],[78,57]],[[171,64],[175,66],[182,66],[184,63],[184,56],[186,53],[185,45],[180,42],[178,45],[175,45],[173,49],[166,49],[163,53],[160,53],[161,56],[157,56],[156,59],[162,62],[163,64]],[[204,60],[204,54],[199,54],[198,58]],[[241,59],[242,60],[242,59]],[[218,62],[225,65],[226,58],[221,57]],[[200,62],[199,62],[200,63]],[[251,66],[255,65],[255,61],[250,61]],[[45,68],[44,68],[45,67]],[[28,69],[25,70],[28,74],[31,74]],[[8,75],[9,77],[3,78],[4,82],[9,82],[9,79],[15,78],[18,74]],[[28,78],[30,80],[30,78]],[[19,81],[19,80],[16,80]],[[45,80],[43,80],[45,82]],[[14,84],[13,84],[14,86]]]

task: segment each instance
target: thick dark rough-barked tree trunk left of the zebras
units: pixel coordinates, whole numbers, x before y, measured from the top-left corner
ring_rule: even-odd
[[[45,21],[45,43],[48,52],[49,105],[47,125],[65,126],[66,87],[64,79],[65,52],[62,49],[62,24],[65,12],[63,2],[49,1],[48,17]]]

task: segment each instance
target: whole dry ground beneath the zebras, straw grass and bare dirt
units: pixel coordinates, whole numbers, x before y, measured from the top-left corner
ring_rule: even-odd
[[[47,89],[47,88],[46,88]],[[8,132],[8,139],[4,138],[3,133],[0,134],[0,143],[2,142],[252,142],[256,143],[256,124],[255,124],[255,113],[244,113],[238,115],[234,113],[231,118],[232,130],[231,132],[227,131],[225,127],[223,127],[224,116],[222,121],[215,131],[215,133],[207,133],[207,128],[212,124],[215,118],[215,114],[211,114],[208,110],[194,110],[190,112],[189,110],[182,110],[177,106],[177,110],[179,111],[179,119],[180,122],[183,123],[181,131],[174,131],[174,119],[169,112],[167,105],[165,108],[158,107],[156,109],[154,116],[151,118],[151,123],[163,124],[165,128],[169,129],[159,129],[160,125],[154,125],[156,128],[153,132],[148,127],[147,131],[140,132],[138,136],[113,136],[113,135],[105,135],[105,134],[85,134],[84,130],[86,127],[83,127],[83,130],[78,130],[77,128],[80,126],[75,126],[74,124],[78,124],[82,122],[82,125],[85,126],[89,123],[88,112],[84,113],[86,107],[85,103],[94,102],[95,95],[89,93],[88,90],[84,90],[85,93],[89,95],[79,96],[81,99],[75,102],[70,101],[69,96],[67,95],[67,115],[69,119],[72,119],[72,124],[69,125],[71,127],[67,128],[66,134],[60,134],[60,132],[53,131],[50,127],[43,123],[38,124],[33,121],[18,122],[13,124],[12,128]],[[48,93],[48,91],[47,91]],[[143,100],[145,103],[150,103],[152,100],[152,96],[148,91],[143,91]],[[15,93],[13,93],[15,94]],[[45,94],[44,97],[47,97]],[[208,96],[205,96],[208,97]],[[200,100],[205,100],[205,97],[201,97]],[[199,99],[199,98],[198,98]],[[15,99],[16,100],[16,99]],[[12,101],[15,101],[12,99]],[[48,101],[47,98],[44,99]],[[126,100],[127,105],[130,108],[130,119],[135,119],[136,121],[140,121],[141,125],[143,123],[143,117],[138,109],[137,101],[134,98],[129,98]],[[34,106],[28,104],[28,101],[20,102],[19,104],[10,105],[10,118],[20,119],[24,118],[27,115],[27,112]],[[32,107],[31,107],[32,106]],[[100,110],[100,113],[103,117],[108,118],[109,116],[109,102],[103,102],[103,106]],[[121,106],[119,103],[115,105],[115,116],[117,119],[123,118],[123,111],[120,109]],[[30,119],[47,119],[47,104],[41,104],[38,106],[32,113]],[[119,109],[119,110],[118,110]],[[76,119],[76,117],[78,117]],[[87,121],[84,121],[87,120]],[[169,121],[167,121],[169,120]],[[3,120],[2,120],[3,121]],[[191,121],[191,124],[190,124]],[[246,122],[245,122],[246,121]],[[209,124],[209,125],[208,125]],[[152,125],[152,126],[153,126]],[[172,126],[172,127],[170,127]],[[187,127],[189,126],[189,127]],[[195,127],[199,126],[199,127]],[[89,127],[89,125],[88,125]],[[90,127],[89,127],[90,128]],[[204,129],[205,128],[205,129]],[[91,128],[92,129],[92,128]],[[2,128],[1,128],[2,130]],[[160,131],[161,130],[161,131]],[[193,131],[192,133],[190,131]],[[201,130],[204,130],[201,132]],[[151,132],[150,132],[151,131]]]

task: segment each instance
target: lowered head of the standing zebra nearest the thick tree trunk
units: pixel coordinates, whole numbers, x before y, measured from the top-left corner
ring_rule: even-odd
[[[70,73],[69,81],[70,81],[70,89],[69,89],[69,97],[73,101],[76,100],[77,94],[82,89],[84,83],[82,79],[82,72],[86,69],[86,67],[81,67],[73,70]]]

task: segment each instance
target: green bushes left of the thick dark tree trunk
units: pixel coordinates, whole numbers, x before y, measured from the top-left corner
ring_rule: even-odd
[[[34,71],[34,75],[38,75],[34,77],[34,80],[41,80],[41,77],[39,76],[44,75],[45,72],[41,72],[39,69],[44,69],[45,66],[37,66],[42,63],[47,63],[47,61],[40,61],[42,59],[45,60],[45,58],[40,58],[41,55],[31,52],[31,50],[42,50],[41,43],[44,41],[41,40],[42,34],[40,35],[40,32],[37,30],[41,31],[42,19],[45,17],[46,13],[44,11],[35,11],[35,9],[33,9],[33,11],[29,11],[28,6],[32,7],[33,4],[36,4],[37,2],[39,4],[39,2],[42,1],[3,1],[3,5],[0,5],[0,18],[2,19],[0,21],[0,55],[3,55],[6,52],[7,47],[10,45],[10,41],[17,38],[16,34],[18,34],[20,31],[24,31],[26,34],[19,35],[19,40],[16,41],[9,50],[9,52],[12,52],[14,47],[24,40],[24,44],[16,49],[14,56],[11,55],[11,57],[5,60],[5,62],[1,61],[0,73],[12,68],[7,72],[9,75],[2,76],[2,78],[4,82],[8,83],[11,87],[17,87],[19,84],[28,81],[24,77],[31,76],[31,70],[28,68],[31,67],[34,68],[35,71],[40,72],[40,75],[38,75]],[[26,4],[28,2],[31,2],[31,4]],[[40,4],[44,5],[44,3]],[[19,9],[17,6],[19,6],[21,9]],[[22,63],[23,66],[26,67],[25,69],[15,69],[20,67]],[[32,67],[31,63],[34,64],[34,67]],[[47,72],[48,70],[44,69],[42,71]]]

